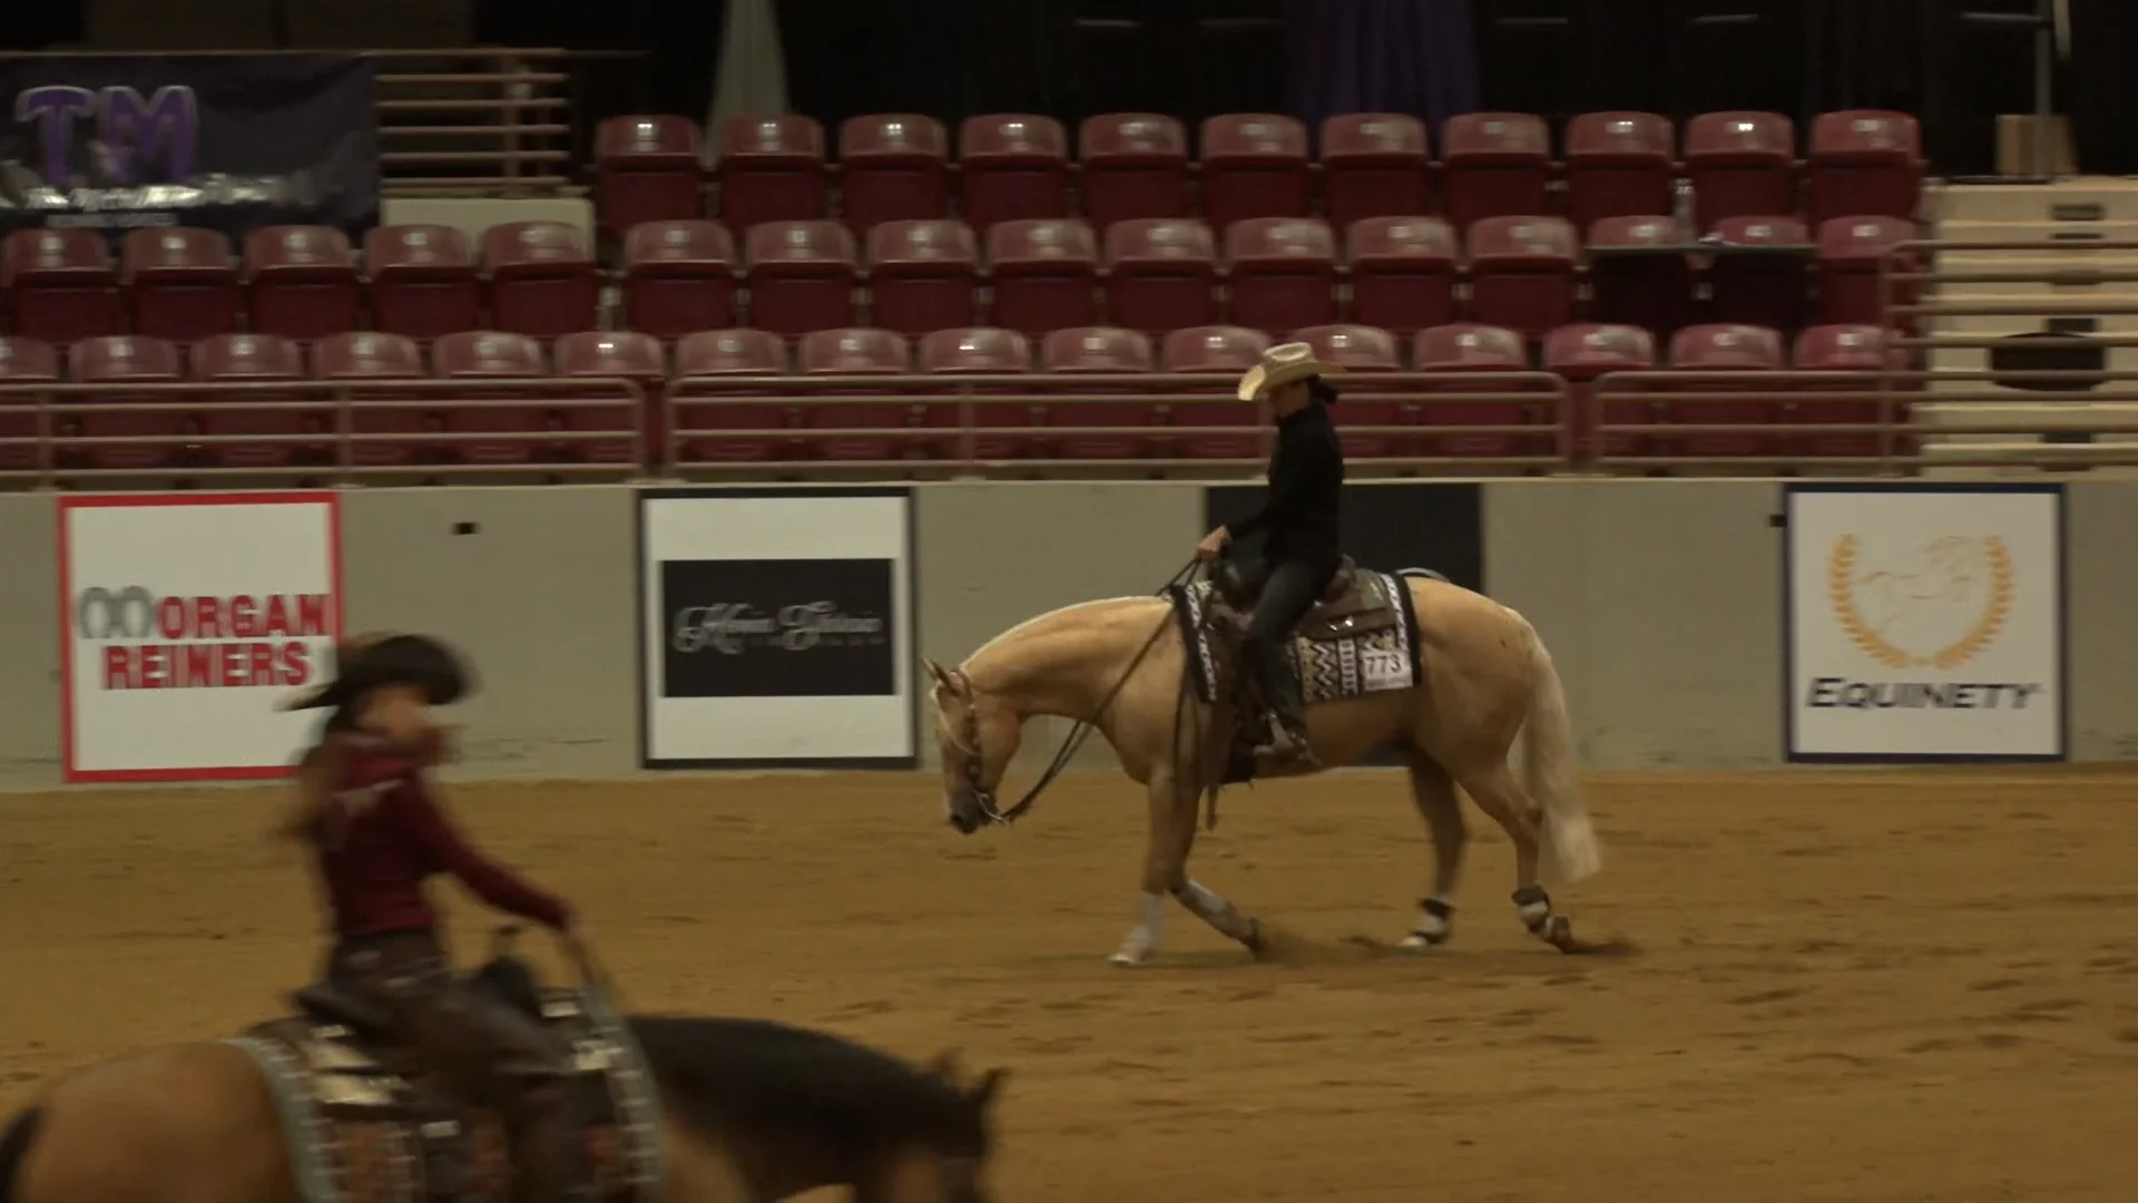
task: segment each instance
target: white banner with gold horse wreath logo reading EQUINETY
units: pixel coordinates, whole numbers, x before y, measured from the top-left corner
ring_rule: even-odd
[[[2063,760],[2057,484],[1792,484],[1785,749],[1798,762]]]

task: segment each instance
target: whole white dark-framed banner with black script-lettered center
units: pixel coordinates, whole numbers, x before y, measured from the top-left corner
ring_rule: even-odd
[[[639,490],[639,762],[911,768],[913,494]]]

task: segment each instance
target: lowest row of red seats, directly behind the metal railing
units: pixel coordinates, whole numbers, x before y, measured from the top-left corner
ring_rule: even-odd
[[[1415,437],[1392,437],[1388,432],[1353,430],[1347,445],[1353,456],[1514,456],[1548,454],[1539,452],[1552,435],[1546,426],[1556,422],[1554,407],[1514,400],[1465,400],[1452,396],[1445,402],[1388,400],[1388,390],[1377,390],[1377,372],[1432,372],[1441,383],[1420,390],[1415,383],[1398,385],[1403,392],[1454,392],[1465,385],[1447,377],[1465,372],[1527,372],[1531,366],[1529,347],[1520,334],[1492,325],[1456,323],[1420,332],[1411,338],[1409,364],[1403,345],[1385,330],[1362,325],[1330,325],[1304,330],[1300,338],[1315,345],[1317,353],[1343,364],[1353,377],[1347,383],[1347,400],[1338,407],[1343,426],[1422,426]],[[661,342],[646,334],[597,334],[584,332],[560,338],[554,360],[532,338],[502,332],[466,332],[440,338],[432,347],[430,364],[417,342],[376,332],[355,332],[321,340],[306,364],[304,351],[284,338],[237,334],[207,338],[195,347],[182,364],[180,347],[158,338],[113,336],[77,342],[62,355],[34,338],[0,338],[0,385],[34,383],[96,383],[113,385],[113,394],[92,394],[96,400],[124,400],[122,385],[156,385],[182,379],[195,381],[406,381],[423,377],[440,379],[541,379],[558,377],[603,377],[629,379],[646,390],[652,413],[641,415],[646,426],[661,426],[659,413],[665,409],[663,392],[671,379],[708,377],[780,377],[800,370],[808,377],[904,377],[915,364],[943,381],[956,375],[1013,377],[1033,372],[1035,364],[1043,375],[1148,375],[1167,372],[1219,372],[1231,375],[1253,366],[1268,336],[1242,328],[1180,330],[1165,338],[1161,353],[1155,353],[1150,338],[1131,330],[1093,328],[1060,330],[1041,340],[1035,360],[1031,342],[1013,330],[945,330],[930,334],[915,347],[889,330],[825,330],[802,338],[797,355],[789,357],[785,340],[761,330],[714,330],[686,336],[669,362]],[[917,351],[917,355],[915,355]],[[1657,355],[1655,338],[1646,330],[1627,325],[1567,325],[1554,330],[1541,349],[1541,366],[1567,381],[1576,413],[1589,413],[1589,390],[1599,377],[1625,370],[1646,370],[1655,366],[1689,370],[1779,370],[1790,366],[1792,355],[1779,332],[1753,325],[1695,325],[1680,330],[1668,345],[1668,360]],[[1886,366],[1884,332],[1869,325],[1822,325],[1796,338],[1794,364],[1817,370],[1871,372]],[[1043,379],[1043,377],[1039,377]],[[947,381],[945,381],[947,383]],[[789,458],[815,460],[898,460],[909,456],[949,458],[962,454],[956,435],[964,415],[960,407],[941,405],[947,396],[943,383],[919,385],[928,396],[898,390],[907,396],[896,400],[862,405],[810,405],[808,396],[765,398],[755,387],[738,396],[699,396],[678,402],[676,426],[682,435],[680,450],[686,462],[770,462]],[[1035,379],[1037,385],[1037,379]],[[1488,385],[1492,392],[1507,392],[1509,385]],[[776,385],[774,385],[776,390]],[[1187,458],[1253,458],[1257,441],[1238,428],[1257,422],[1251,405],[1240,405],[1227,396],[1210,396],[1204,385],[1182,394],[1178,402],[1152,405],[1146,398],[1125,398],[1120,402],[1075,402],[1075,405],[1033,405],[977,402],[973,422],[988,428],[977,437],[973,454],[983,460],[1013,458],[1073,458],[1073,460],[1133,460],[1155,454]],[[881,381],[862,385],[859,392],[883,392]],[[1001,390],[986,390],[1001,392]],[[1107,390],[1114,392],[1114,385]],[[1377,398],[1375,394],[1381,394]],[[1471,390],[1475,392],[1475,390]],[[26,411],[6,413],[4,400],[21,400],[28,394],[0,394],[0,469],[28,471],[36,462],[34,432],[36,420]],[[145,398],[152,394],[133,394]],[[235,394],[239,400],[248,394]],[[257,396],[257,394],[250,394]],[[304,462],[334,462],[325,443],[304,445],[306,437],[321,437],[331,417],[308,415],[291,409],[207,411],[201,417],[186,413],[186,396],[165,396],[154,409],[128,413],[83,413],[71,417],[62,432],[115,437],[115,439],[177,439],[186,432],[205,435],[248,435],[254,443],[212,445],[207,460],[222,467],[289,467]],[[1734,407],[1702,407],[1698,422],[1775,422],[1772,402],[1745,402]],[[1856,407],[1864,409],[1864,407]],[[1608,422],[1668,422],[1653,402],[1614,402],[1604,407]],[[1841,411],[1837,407],[1807,409],[1807,415],[1824,422],[1869,422],[1869,413]],[[547,407],[537,398],[520,405],[466,405],[438,398],[434,409],[363,409],[353,420],[357,432],[402,435],[391,441],[363,441],[353,450],[359,467],[408,465],[408,462],[479,462],[479,465],[534,465],[556,460],[579,462],[629,462],[631,443],[626,439],[586,441],[571,445],[543,445],[543,435],[556,430],[629,430],[629,415],[614,409],[571,409],[569,402],[552,400]],[[1206,430],[1195,428],[1229,428]],[[1518,432],[1465,432],[1465,426],[1537,426],[1537,435]],[[1586,424],[1582,424],[1584,428]],[[1022,428],[1022,430],[1020,430]],[[1093,428],[1150,428],[1150,435],[1101,435]],[[729,437],[706,437],[723,430]],[[810,432],[817,435],[810,435]],[[900,437],[894,430],[913,430],[917,437]],[[477,435],[481,439],[423,445],[425,432]],[[783,435],[774,435],[783,432]],[[924,432],[924,435],[921,435]],[[699,437],[693,437],[699,435]],[[740,437],[738,437],[740,435]],[[1580,445],[1591,439],[1580,430]],[[1638,443],[1638,439],[1633,439]],[[1633,445],[1614,439],[1612,450]],[[1762,454],[1770,439],[1760,435],[1689,435],[1691,454]],[[1822,439],[1804,454],[1866,454],[1864,437],[1834,435]],[[105,469],[169,469],[186,462],[177,443],[165,445],[98,445],[88,452],[90,467]]]

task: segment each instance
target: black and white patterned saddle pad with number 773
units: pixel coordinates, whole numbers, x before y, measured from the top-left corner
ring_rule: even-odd
[[[1379,606],[1398,614],[1398,621],[1381,629],[1334,638],[1293,634],[1289,640],[1289,661],[1291,670],[1300,674],[1300,696],[1308,706],[1315,702],[1341,702],[1366,694],[1409,689],[1422,679],[1417,664],[1417,612],[1411,606],[1411,591],[1405,589],[1403,578],[1388,572],[1355,569],[1355,580],[1362,599],[1379,602]],[[1219,638],[1214,629],[1219,619],[1212,616],[1212,606],[1221,604],[1212,597],[1208,580],[1197,580],[1189,587],[1176,584],[1169,597],[1174,614],[1180,619],[1180,634],[1189,649],[1193,649],[1189,672],[1195,676],[1195,696],[1214,704],[1219,700],[1219,651],[1212,646],[1212,640]],[[1326,623],[1308,614],[1304,625],[1321,627]]]

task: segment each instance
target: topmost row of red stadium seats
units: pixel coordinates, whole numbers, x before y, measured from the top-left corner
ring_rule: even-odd
[[[1082,122],[1071,161],[1054,118],[990,113],[958,128],[951,163],[943,122],[874,113],[840,124],[834,171],[815,120],[733,118],[718,131],[710,180],[718,184],[716,214],[738,229],[830,216],[834,180],[857,231],[951,216],[954,205],[986,229],[1069,216],[1071,201],[1101,229],[1195,212],[1225,229],[1255,216],[1308,216],[1317,203],[1336,227],[1441,212],[1465,229],[1488,216],[1556,212],[1550,191],[1563,176],[1565,214],[1586,229],[1606,216],[1672,212],[1683,171],[1706,229],[1760,214],[1802,214],[1813,225],[1849,214],[1911,218],[1924,173],[1916,118],[1879,109],[1822,113],[1802,163],[1790,118],[1753,111],[1693,118],[1683,158],[1668,118],[1631,111],[1574,118],[1561,161],[1552,158],[1550,128],[1531,113],[1450,118],[1437,163],[1424,122],[1403,113],[1328,118],[1319,156],[1306,128],[1281,113],[1223,113],[1199,133],[1199,161],[1191,161],[1178,120],[1103,113]],[[688,118],[603,122],[594,141],[601,227],[622,233],[641,220],[706,216],[701,152]]]

